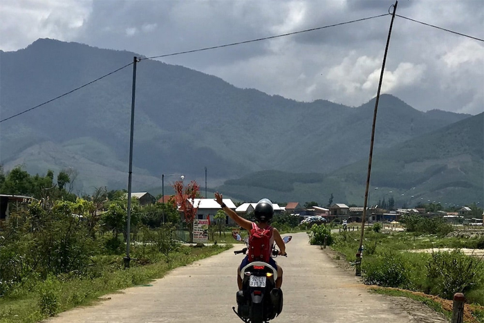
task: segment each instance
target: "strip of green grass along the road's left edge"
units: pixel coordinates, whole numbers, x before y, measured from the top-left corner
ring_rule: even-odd
[[[147,266],[133,266],[128,270],[104,270],[93,279],[49,277],[43,282],[20,286],[8,297],[0,299],[0,323],[31,323],[44,320],[48,313],[60,313],[80,305],[90,305],[99,297],[124,288],[147,284],[165,276],[170,270],[216,255],[232,246],[205,248],[185,247],[169,259]]]

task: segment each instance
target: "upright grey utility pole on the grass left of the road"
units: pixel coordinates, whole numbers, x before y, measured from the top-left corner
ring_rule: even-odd
[[[133,131],[134,131],[134,102],[136,93],[136,63],[139,62],[138,57],[133,57],[133,91],[131,93],[131,133],[129,135],[129,176],[128,176],[128,210],[126,223],[126,257],[124,257],[124,269],[129,268],[129,243],[131,238],[131,176],[133,174]]]

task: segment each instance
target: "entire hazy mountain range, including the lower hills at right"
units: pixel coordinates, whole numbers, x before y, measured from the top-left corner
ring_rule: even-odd
[[[0,50],[0,118],[129,65],[133,56],[142,57],[54,39]],[[129,65],[1,122],[0,163],[6,170],[24,165],[33,174],[72,167],[79,173],[78,192],[127,187],[132,80]],[[323,202],[333,192],[339,201],[359,203],[374,105],[375,99],[360,107],[297,102],[142,59],[136,73],[133,190],[159,192],[162,174],[167,183],[180,174],[203,183],[207,167],[211,190],[241,200],[268,194],[279,201]],[[462,201],[457,203],[481,201],[483,115],[429,108],[422,112],[393,95],[380,97],[372,186],[400,194],[421,187],[422,199],[423,191],[434,192],[427,194],[432,201],[449,199],[457,190]],[[452,139],[463,129],[459,122],[474,122],[465,134],[472,140]],[[447,177],[454,179],[437,179]],[[251,187],[254,178],[262,183]],[[288,178],[286,184],[280,178]]]

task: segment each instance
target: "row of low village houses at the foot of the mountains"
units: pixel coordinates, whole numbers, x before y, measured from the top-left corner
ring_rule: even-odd
[[[126,194],[127,195],[127,194]],[[135,192],[131,193],[132,199],[138,199],[141,206],[151,205],[154,203],[174,203],[173,195],[165,195],[160,199],[149,194],[149,192]],[[22,205],[28,205],[34,199],[30,196],[18,196],[0,194],[0,220],[8,219],[9,210],[12,205],[15,205],[17,209]],[[236,205],[232,199],[223,199],[223,202],[227,207],[230,207],[237,214],[241,216],[247,216],[254,212],[254,207],[257,203],[241,203]],[[214,221],[214,216],[221,210],[220,205],[216,203],[214,199],[187,199],[187,203],[191,203],[193,207],[197,208],[197,219],[210,219]],[[347,221],[348,223],[362,221],[363,207],[348,207],[344,203],[333,203],[329,207],[312,206],[305,208],[298,202],[288,202],[286,206],[279,206],[277,203],[273,204],[274,214],[287,213],[292,216],[298,216],[300,221],[304,221],[310,217],[320,217],[327,222],[335,221],[336,223],[342,223]],[[180,206],[178,205],[178,209]],[[181,211],[180,211],[181,212]],[[398,210],[384,210],[378,207],[366,208],[366,222],[392,222],[400,221],[402,216],[408,214],[420,214],[422,216],[436,217],[440,216],[448,223],[454,225],[483,225],[484,213],[481,218],[472,218],[469,215],[472,213],[472,209],[468,206],[463,206],[457,212],[426,212],[424,208],[407,208]],[[180,214],[183,216],[183,214]],[[226,219],[227,225],[235,225],[232,219]]]

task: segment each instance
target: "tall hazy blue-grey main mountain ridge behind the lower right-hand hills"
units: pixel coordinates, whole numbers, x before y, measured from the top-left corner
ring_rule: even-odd
[[[1,118],[110,73],[134,55],[54,39],[0,50]],[[125,188],[131,81],[129,66],[2,122],[0,163],[7,170],[23,164],[34,173],[73,167],[80,172],[80,192],[100,185]],[[368,154],[374,100],[357,108],[296,102],[153,60],[138,63],[136,85],[133,190],[159,186],[161,174],[185,174],[202,183],[204,167],[209,183],[267,169],[327,174]],[[382,95],[375,151],[467,117],[424,113]]]

